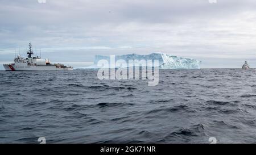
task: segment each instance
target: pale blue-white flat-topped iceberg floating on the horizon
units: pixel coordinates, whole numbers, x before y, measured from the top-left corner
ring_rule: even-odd
[[[110,56],[96,55],[94,58],[94,64],[92,66],[89,66],[88,68],[100,68],[100,66],[97,66],[98,61],[100,60],[107,60],[108,62],[110,62]],[[115,56],[115,62],[117,62],[117,60],[125,60],[127,64],[129,64],[129,60],[152,60],[153,63],[154,60],[158,60],[159,69],[200,69],[201,64],[200,60],[171,56],[164,53],[152,53],[151,55],[131,54]]]

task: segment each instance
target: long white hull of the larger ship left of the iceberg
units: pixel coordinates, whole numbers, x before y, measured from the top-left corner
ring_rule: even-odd
[[[71,71],[73,68],[56,68],[56,66],[16,66],[16,65],[3,65],[6,71]]]

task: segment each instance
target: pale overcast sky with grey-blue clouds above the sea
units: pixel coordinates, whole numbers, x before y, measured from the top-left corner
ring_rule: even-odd
[[[202,68],[256,67],[255,0],[40,1],[0,0],[0,64],[31,41],[42,57],[79,67],[94,55],[152,52]]]

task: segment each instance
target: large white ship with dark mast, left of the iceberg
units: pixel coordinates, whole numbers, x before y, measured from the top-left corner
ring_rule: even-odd
[[[57,71],[57,70],[73,70],[72,66],[64,66],[63,64],[51,64],[48,58],[32,57],[31,43],[27,51],[27,58],[20,55],[15,56],[14,63],[3,64],[6,71]]]

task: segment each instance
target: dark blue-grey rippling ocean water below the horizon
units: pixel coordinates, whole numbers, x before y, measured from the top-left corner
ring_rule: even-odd
[[[160,70],[148,86],[92,69],[0,71],[0,143],[256,143],[255,73]]]

